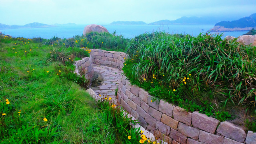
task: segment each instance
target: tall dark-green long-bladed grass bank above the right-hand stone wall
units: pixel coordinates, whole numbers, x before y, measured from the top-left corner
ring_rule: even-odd
[[[221,121],[240,108],[255,118],[256,47],[221,35],[155,32],[133,38],[127,53],[124,74],[155,98]]]

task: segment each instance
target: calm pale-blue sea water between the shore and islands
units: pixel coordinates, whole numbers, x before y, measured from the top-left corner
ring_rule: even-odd
[[[59,38],[72,38],[75,35],[82,35],[86,25],[75,26],[59,26],[52,28],[18,28],[18,29],[5,29],[0,30],[4,34],[9,34],[14,37],[24,38],[52,38],[57,36]],[[122,34],[125,38],[134,38],[139,34],[146,32],[165,31],[170,34],[190,34],[197,36],[201,32],[204,33],[211,29],[214,25],[103,25],[110,33],[116,31],[118,35]],[[238,37],[246,32],[224,32],[222,38],[230,35]]]

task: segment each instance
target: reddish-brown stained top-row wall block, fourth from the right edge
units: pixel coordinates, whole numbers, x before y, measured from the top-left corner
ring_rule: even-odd
[[[191,112],[187,112],[183,108],[180,108],[180,107],[176,106],[173,109],[173,117],[174,117],[175,120],[183,122],[183,123],[185,123],[185,124],[187,124],[189,126],[191,125],[192,113]]]

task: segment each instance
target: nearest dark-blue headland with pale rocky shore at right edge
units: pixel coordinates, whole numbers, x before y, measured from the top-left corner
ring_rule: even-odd
[[[210,32],[247,31],[256,28],[256,13],[239,20],[222,21],[215,24]]]

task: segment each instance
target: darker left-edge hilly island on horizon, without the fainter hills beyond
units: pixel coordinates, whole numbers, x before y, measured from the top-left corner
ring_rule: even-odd
[[[18,26],[18,25],[6,25],[6,24],[0,24],[0,29],[10,29],[10,28],[48,28],[48,27],[54,27],[54,25],[48,25],[48,24],[41,24],[38,22],[33,22],[30,24],[25,24],[24,26]]]

